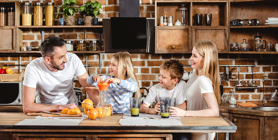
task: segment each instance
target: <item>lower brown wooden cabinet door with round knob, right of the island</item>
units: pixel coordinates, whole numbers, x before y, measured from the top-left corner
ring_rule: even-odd
[[[264,139],[264,117],[230,113],[230,120],[237,126],[235,133],[229,133],[230,139]]]

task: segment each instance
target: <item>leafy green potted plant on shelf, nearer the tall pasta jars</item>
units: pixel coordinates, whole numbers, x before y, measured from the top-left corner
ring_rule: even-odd
[[[75,25],[75,17],[73,16],[74,12],[78,11],[77,7],[74,7],[77,4],[77,0],[64,0],[64,4],[61,5],[62,14],[65,16],[66,25]],[[57,8],[57,16],[59,14],[59,9]]]

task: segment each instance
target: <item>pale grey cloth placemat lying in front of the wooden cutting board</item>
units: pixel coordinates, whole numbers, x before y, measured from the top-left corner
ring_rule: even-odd
[[[45,119],[39,117],[36,119],[24,119],[15,125],[40,125],[40,126],[77,126],[83,119]]]

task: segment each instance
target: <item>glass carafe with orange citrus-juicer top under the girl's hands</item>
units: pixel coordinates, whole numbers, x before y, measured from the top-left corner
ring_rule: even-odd
[[[108,109],[106,116],[111,115],[111,108],[108,102],[107,98],[107,90],[108,90],[109,84],[98,84],[98,90],[100,92],[100,99],[98,101],[98,104],[96,105],[97,107],[101,107],[104,109]]]

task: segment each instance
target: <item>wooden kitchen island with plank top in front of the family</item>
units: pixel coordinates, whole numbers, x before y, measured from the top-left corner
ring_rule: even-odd
[[[14,125],[34,117],[24,113],[0,112],[1,139],[170,140],[173,139],[173,134],[183,132],[223,132],[228,136],[229,132],[235,132],[237,129],[237,126],[222,114],[219,117],[181,117],[183,126],[121,126],[119,120],[123,114],[113,114],[102,120],[84,118],[78,126]]]

